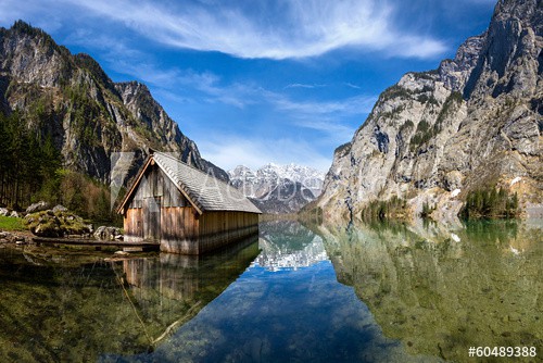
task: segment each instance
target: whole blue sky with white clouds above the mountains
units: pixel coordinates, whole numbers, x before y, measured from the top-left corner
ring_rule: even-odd
[[[229,170],[327,171],[377,97],[484,32],[489,0],[2,0],[115,82],[136,79]]]

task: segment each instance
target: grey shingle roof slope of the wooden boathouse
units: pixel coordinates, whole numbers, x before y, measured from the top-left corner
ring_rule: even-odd
[[[162,152],[154,151],[152,158],[202,212],[262,213],[241,191],[223,180]]]

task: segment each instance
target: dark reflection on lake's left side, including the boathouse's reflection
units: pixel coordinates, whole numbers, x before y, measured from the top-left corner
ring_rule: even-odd
[[[157,347],[258,254],[256,237],[203,256],[124,261],[0,249],[0,361],[96,361]]]

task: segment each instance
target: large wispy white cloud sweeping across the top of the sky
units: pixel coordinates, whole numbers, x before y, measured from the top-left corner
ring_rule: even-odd
[[[395,29],[394,8],[377,0],[184,2],[169,8],[148,0],[66,1],[155,41],[238,58],[307,58],[342,48],[428,58],[445,50],[440,40]]]

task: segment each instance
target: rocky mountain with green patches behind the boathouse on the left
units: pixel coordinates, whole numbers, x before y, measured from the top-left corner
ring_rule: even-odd
[[[102,182],[111,176],[112,153],[134,152],[134,174],[149,148],[228,180],[146,85],[112,82],[91,57],[72,54],[22,21],[0,28],[0,111],[18,112],[35,134],[52,138],[65,167]]]

